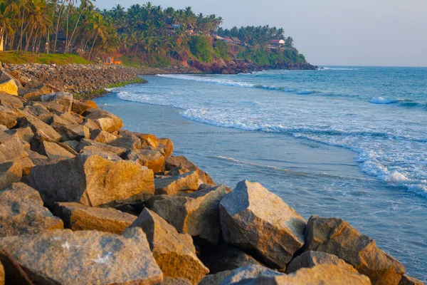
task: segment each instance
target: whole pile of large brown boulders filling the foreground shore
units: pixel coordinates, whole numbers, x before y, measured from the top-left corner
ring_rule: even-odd
[[[423,284],[342,219],[216,185],[93,102],[0,93],[0,112],[0,284]]]

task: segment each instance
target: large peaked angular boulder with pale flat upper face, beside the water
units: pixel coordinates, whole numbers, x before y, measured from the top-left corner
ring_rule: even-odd
[[[304,244],[305,220],[259,183],[238,182],[219,204],[223,239],[284,269]]]

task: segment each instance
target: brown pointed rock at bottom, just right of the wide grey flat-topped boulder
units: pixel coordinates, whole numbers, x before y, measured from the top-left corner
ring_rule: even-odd
[[[145,208],[130,227],[142,227],[149,247],[164,276],[189,279],[192,284],[209,273],[192,249],[186,246],[181,234],[162,217]]]

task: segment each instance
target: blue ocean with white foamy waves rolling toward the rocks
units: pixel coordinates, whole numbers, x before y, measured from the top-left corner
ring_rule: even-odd
[[[144,76],[97,99],[218,183],[340,217],[427,281],[427,68]]]

